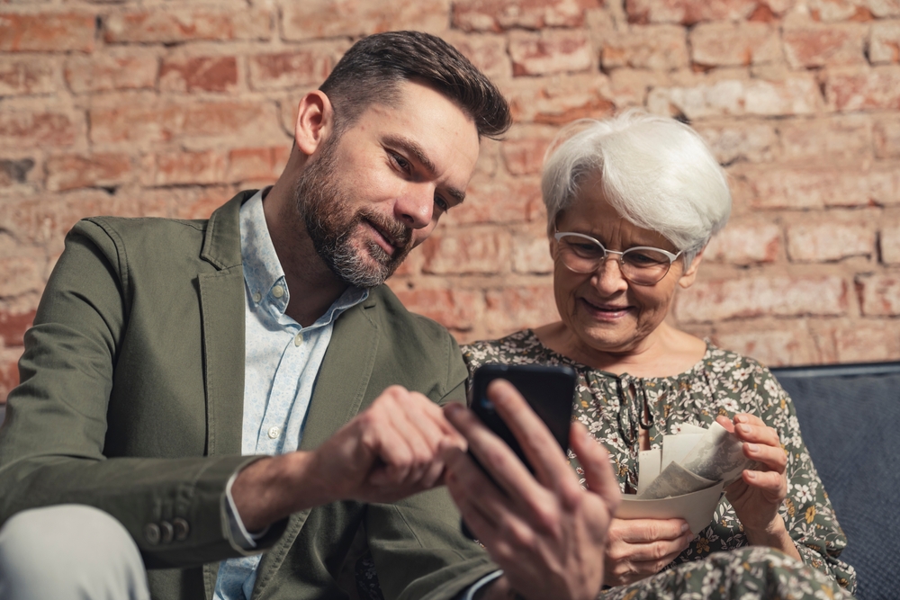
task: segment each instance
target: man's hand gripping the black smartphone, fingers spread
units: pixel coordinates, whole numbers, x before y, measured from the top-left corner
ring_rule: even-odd
[[[534,600],[594,600],[603,585],[607,531],[619,503],[607,452],[584,426],[572,424],[570,443],[584,467],[584,490],[553,435],[509,382],[491,382],[488,397],[535,476],[472,412],[445,407],[498,484],[459,447],[446,452],[447,488],[466,524],[504,571],[482,597],[514,590]]]

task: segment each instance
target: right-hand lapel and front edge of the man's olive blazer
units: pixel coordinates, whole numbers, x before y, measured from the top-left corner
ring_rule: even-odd
[[[300,450],[318,448],[359,412],[378,350],[378,326],[367,314],[375,306],[373,299],[365,300],[347,310],[335,323],[312,392]],[[281,540],[263,556],[257,569],[253,598],[271,583],[309,515],[310,510],[291,515]]]

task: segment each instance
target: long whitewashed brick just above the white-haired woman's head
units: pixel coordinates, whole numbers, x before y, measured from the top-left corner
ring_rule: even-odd
[[[717,116],[782,116],[811,114],[822,104],[819,85],[807,74],[780,80],[725,79],[690,87],[661,87],[651,91],[651,112],[680,112],[690,120]]]

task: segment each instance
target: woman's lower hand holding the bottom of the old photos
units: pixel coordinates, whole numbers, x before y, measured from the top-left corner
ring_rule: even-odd
[[[683,519],[613,519],[607,536],[608,586],[656,575],[694,539]]]

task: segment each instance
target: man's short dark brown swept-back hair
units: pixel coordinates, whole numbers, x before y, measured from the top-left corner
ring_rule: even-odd
[[[459,50],[421,31],[387,31],[356,42],[319,88],[329,96],[340,137],[374,103],[400,103],[399,84],[417,81],[444,94],[475,122],[478,135],[509,130],[509,104]]]

